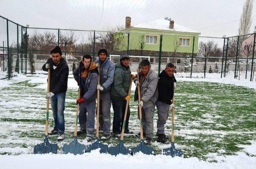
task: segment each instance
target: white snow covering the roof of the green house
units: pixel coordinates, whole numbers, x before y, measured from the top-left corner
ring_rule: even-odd
[[[149,21],[143,24],[138,24],[133,26],[133,28],[145,28],[145,29],[158,29],[158,30],[167,30],[167,31],[181,31],[181,32],[193,32],[200,33],[190,28],[186,28],[174,22],[174,29],[169,28],[170,21],[165,19],[156,19]]]

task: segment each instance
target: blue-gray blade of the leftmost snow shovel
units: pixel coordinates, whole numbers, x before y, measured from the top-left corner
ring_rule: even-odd
[[[57,154],[57,144],[49,142],[48,136],[44,137],[44,142],[34,146],[34,154]]]

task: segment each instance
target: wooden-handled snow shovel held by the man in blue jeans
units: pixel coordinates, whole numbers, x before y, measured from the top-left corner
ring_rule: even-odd
[[[50,69],[48,69],[48,86],[47,93],[50,92]],[[45,122],[45,137],[44,142],[34,146],[34,154],[54,153],[57,154],[57,144],[52,144],[48,139],[49,127],[49,98],[46,101],[46,122]]]

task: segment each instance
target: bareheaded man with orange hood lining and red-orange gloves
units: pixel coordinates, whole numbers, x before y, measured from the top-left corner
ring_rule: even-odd
[[[80,131],[86,131],[86,140],[91,141],[94,136],[98,71],[90,55],[83,56],[73,75],[80,87],[80,98],[76,101],[76,104],[80,104],[78,116]]]

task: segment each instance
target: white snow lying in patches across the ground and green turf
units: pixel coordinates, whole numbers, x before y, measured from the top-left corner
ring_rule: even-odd
[[[135,72],[133,72],[136,74]],[[31,85],[39,84],[35,86],[35,88],[45,89],[47,88],[47,75],[36,74],[36,75],[20,75],[16,74],[16,77],[11,78],[10,80],[0,80],[0,90],[1,88],[8,87],[13,83],[19,83],[22,81],[28,81]],[[220,78],[220,74],[216,73],[206,73],[206,78],[204,79],[203,73],[193,73],[192,79],[190,79],[190,73],[177,73],[176,75],[177,85],[179,85],[180,81],[193,81],[193,82],[211,82],[211,83],[224,83],[231,84],[236,86],[246,86],[248,88],[256,89],[256,82],[254,78],[254,82],[250,82],[250,75],[248,73],[247,79],[245,79],[245,73],[241,73],[240,81],[238,79],[234,79],[234,73],[230,72],[226,75],[226,77]],[[72,73],[70,72],[68,79],[68,88],[76,89],[77,84],[76,81],[72,78]],[[132,90],[135,90],[135,85],[132,83]],[[179,93],[178,93],[179,94]],[[24,105],[24,108],[20,108],[20,111],[30,111],[26,102],[30,102],[32,105],[37,105],[38,108],[44,108],[44,98],[37,98],[37,100],[33,100],[31,98],[31,94],[28,95],[28,100],[20,99],[8,102],[0,102],[1,107],[9,106],[10,108],[18,107],[20,105]],[[69,101],[68,99],[66,101]],[[191,100],[188,100],[189,102]],[[41,103],[42,102],[42,103]],[[38,104],[40,103],[40,104]],[[246,103],[243,103],[246,105]],[[217,105],[216,105],[217,106]],[[180,107],[184,107],[185,105],[180,104]],[[182,110],[180,108],[180,110]],[[131,111],[136,110],[136,106],[131,106]],[[193,108],[195,111],[200,111],[200,105],[198,107]],[[215,107],[212,107],[214,110]],[[32,110],[31,111],[35,111]],[[69,111],[69,109],[67,109]],[[113,111],[113,110],[111,110]],[[215,111],[215,110],[214,110]],[[1,112],[2,116],[5,112]],[[180,114],[187,114],[186,111],[179,112]],[[256,113],[254,113],[256,114]],[[7,114],[8,115],[8,114]],[[19,118],[19,112],[12,112],[12,116]],[[22,118],[22,117],[21,117]],[[204,113],[203,118],[206,118],[205,122],[215,123],[211,121],[213,118],[211,114]],[[214,115],[214,118],[222,118],[218,114]],[[34,119],[40,119],[40,114],[36,114]],[[72,120],[71,120],[72,121]],[[203,120],[202,120],[203,121]],[[132,120],[130,123],[136,123]],[[191,123],[191,126],[200,126],[201,124],[198,121],[187,122]],[[176,128],[180,128],[184,124],[179,124],[177,122]],[[229,126],[235,124],[228,124]],[[6,126],[5,128],[3,126]],[[222,123],[216,123],[215,126],[224,128],[225,126]],[[24,122],[1,122],[0,132],[1,134],[8,133],[11,130],[23,131],[24,128],[28,130],[33,130],[32,128],[44,128],[44,124],[32,123],[28,125]],[[131,128],[133,130],[133,128]],[[73,127],[67,125],[67,130],[72,131]],[[186,137],[186,140],[196,140],[198,138],[198,134],[204,134],[215,137],[214,135],[221,135],[224,137],[225,135],[233,135],[233,134],[253,134],[254,131],[219,131],[219,130],[209,130],[205,128],[201,129],[191,129],[191,128],[181,128],[176,136]],[[196,134],[196,135],[195,135]],[[20,140],[18,136],[13,135],[9,136],[9,143],[13,146],[0,147],[0,153],[9,152],[10,154],[20,154],[20,155],[0,155],[0,169],[10,169],[10,168],[61,168],[61,169],[69,169],[73,167],[79,168],[177,168],[177,169],[195,169],[195,168],[204,168],[204,169],[251,169],[256,168],[256,140],[250,141],[251,145],[238,145],[238,147],[243,148],[243,150],[236,152],[236,155],[219,155],[219,153],[224,153],[224,149],[218,149],[218,151],[214,153],[208,153],[206,156],[208,160],[200,160],[197,157],[188,157],[188,158],[180,158],[180,157],[168,157],[165,155],[144,155],[138,153],[134,156],[130,155],[118,155],[116,157],[111,156],[109,154],[100,154],[98,151],[93,151],[92,153],[84,153],[83,155],[72,155],[72,154],[61,154],[62,151],[58,151],[58,154],[45,154],[45,155],[34,155],[31,154],[33,152],[33,147],[20,147],[15,146],[15,144],[24,144],[28,145],[28,141],[30,141],[31,145],[36,145],[41,143],[42,140],[25,137],[23,140]],[[222,141],[220,139],[216,139],[216,141]],[[84,142],[83,142],[84,143]],[[0,141],[1,145],[5,145],[5,142]],[[86,144],[86,143],[84,143]],[[152,143],[152,145],[157,144],[156,142]],[[176,145],[176,148],[184,148],[183,145]],[[169,145],[162,145],[162,148],[166,148]],[[191,145],[191,149],[193,145]],[[196,151],[196,149],[194,149]],[[209,162],[214,161],[214,162]]]

